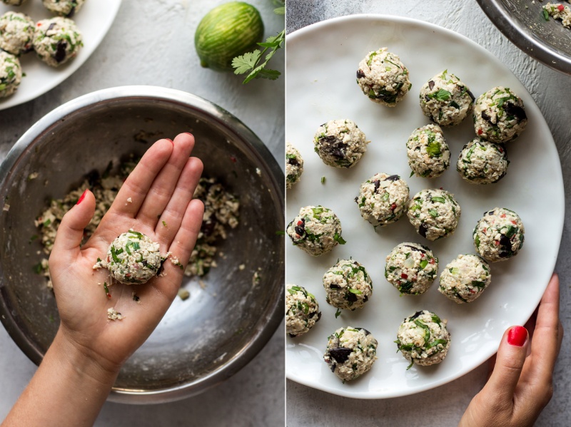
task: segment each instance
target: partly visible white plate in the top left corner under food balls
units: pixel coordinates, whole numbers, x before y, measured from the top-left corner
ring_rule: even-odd
[[[119,6],[121,6],[121,0],[87,0],[85,2],[72,18],[84,36],[84,47],[69,63],[52,68],[43,63],[34,51],[21,56],[20,63],[26,76],[22,77],[20,86],[14,95],[0,99],[0,110],[31,101],[71,76],[101,43],[115,19]],[[28,0],[23,6],[0,4],[0,15],[6,11],[22,12],[34,19],[34,22],[55,16],[41,4],[41,0]]]

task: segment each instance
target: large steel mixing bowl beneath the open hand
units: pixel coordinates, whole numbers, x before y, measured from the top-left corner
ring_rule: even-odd
[[[111,88],[56,108],[32,126],[0,166],[0,318],[39,364],[54,339],[54,294],[34,274],[41,246],[29,242],[34,218],[109,160],[142,155],[159,138],[190,131],[203,176],[217,177],[241,202],[241,222],[220,247],[218,267],[186,278],[156,331],[121,369],[111,401],[158,403],[192,396],[253,359],[283,319],[284,242],[281,168],[237,118],[191,94],[151,86]],[[259,173],[256,173],[256,168]],[[35,180],[26,180],[38,173]],[[239,269],[245,264],[245,269]],[[260,282],[253,281],[258,272]]]

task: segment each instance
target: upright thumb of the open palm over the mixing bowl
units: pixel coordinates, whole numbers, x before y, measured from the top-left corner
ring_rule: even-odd
[[[95,212],[95,197],[89,190],[79,197],[77,204],[72,207],[61,220],[54,249],[50,257],[53,262],[72,262],[79,253],[79,245],[84,237],[84,228],[87,227]]]

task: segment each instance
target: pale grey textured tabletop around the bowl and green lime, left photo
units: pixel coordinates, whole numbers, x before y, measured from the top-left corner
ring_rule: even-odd
[[[188,91],[226,108],[246,123],[283,163],[283,77],[243,86],[241,78],[199,66],[193,42],[196,26],[208,10],[225,2],[124,0],[101,45],[73,76],[34,101],[0,111],[0,160],[36,120],[61,103],[98,89],[143,84]],[[283,17],[273,14],[271,1],[249,3],[261,11],[266,35],[283,29]],[[276,54],[273,62],[283,72],[283,52]],[[106,403],[95,425],[283,426],[282,329],[276,331],[250,364],[214,389],[155,406]],[[0,420],[35,370],[36,366],[0,328]]]

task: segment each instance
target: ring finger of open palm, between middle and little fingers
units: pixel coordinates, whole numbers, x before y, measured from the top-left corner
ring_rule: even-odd
[[[203,165],[197,158],[189,158],[183,168],[171,200],[168,201],[163,214],[159,219],[155,233],[160,237],[161,242],[166,242],[167,247],[171,245],[178,228],[183,222],[183,217],[191,202],[198,180],[201,177]]]

